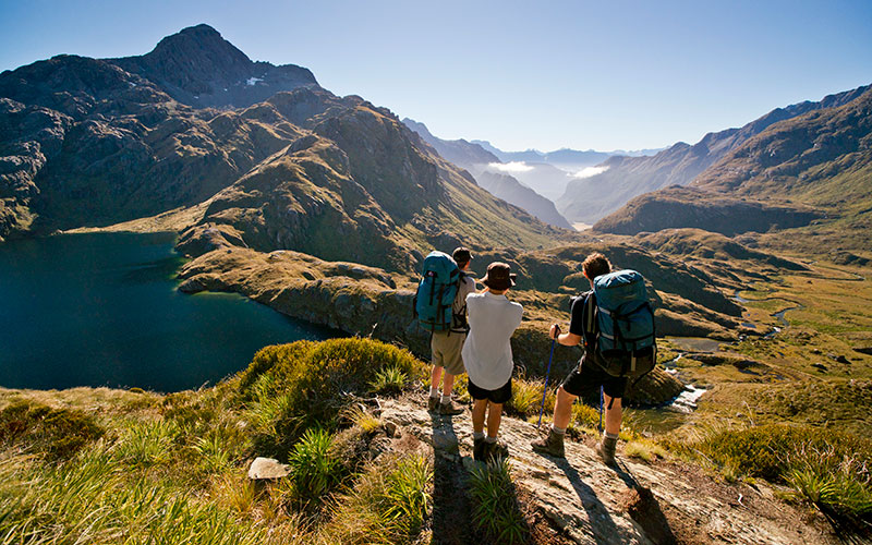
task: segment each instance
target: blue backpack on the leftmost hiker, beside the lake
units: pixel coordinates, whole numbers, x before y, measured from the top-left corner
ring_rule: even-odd
[[[424,258],[421,282],[415,294],[417,323],[431,331],[450,331],[460,269],[450,255],[433,251]]]

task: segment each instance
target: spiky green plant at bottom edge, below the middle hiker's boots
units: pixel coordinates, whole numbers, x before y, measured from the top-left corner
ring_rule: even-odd
[[[511,465],[498,459],[480,465],[470,475],[473,518],[492,543],[524,543],[529,529],[518,505]]]

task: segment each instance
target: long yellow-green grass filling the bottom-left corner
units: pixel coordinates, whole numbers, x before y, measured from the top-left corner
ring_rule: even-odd
[[[60,465],[3,460],[0,513],[3,543],[301,543],[131,471],[106,444]]]

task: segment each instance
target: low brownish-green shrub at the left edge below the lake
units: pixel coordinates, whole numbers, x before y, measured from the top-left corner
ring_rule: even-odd
[[[23,447],[49,460],[66,460],[104,435],[94,419],[82,411],[52,409],[16,401],[0,411],[0,441]]]

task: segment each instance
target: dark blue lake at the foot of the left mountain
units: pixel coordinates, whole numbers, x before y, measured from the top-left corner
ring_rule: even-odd
[[[0,244],[0,386],[178,391],[244,368],[266,344],[327,329],[241,295],[186,295],[169,233]]]

